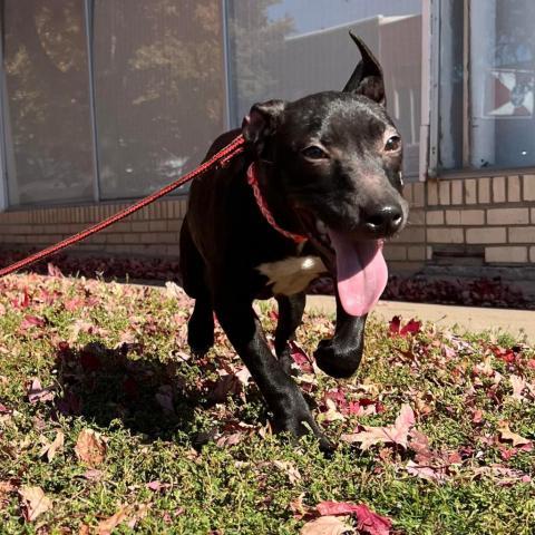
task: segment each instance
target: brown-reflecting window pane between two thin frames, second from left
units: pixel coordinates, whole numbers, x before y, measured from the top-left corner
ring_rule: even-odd
[[[96,0],[103,198],[145,195],[195,167],[225,129],[220,0]]]

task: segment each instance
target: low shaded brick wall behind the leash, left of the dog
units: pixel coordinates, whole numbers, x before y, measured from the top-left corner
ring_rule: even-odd
[[[115,214],[127,204],[31,208],[0,213],[0,247],[42,249],[93,223]],[[70,251],[95,255],[177,256],[178,233],[186,197],[164,200],[75,245]]]

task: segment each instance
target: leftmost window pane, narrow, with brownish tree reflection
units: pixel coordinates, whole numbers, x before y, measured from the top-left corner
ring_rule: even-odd
[[[11,205],[93,197],[84,3],[4,0]]]

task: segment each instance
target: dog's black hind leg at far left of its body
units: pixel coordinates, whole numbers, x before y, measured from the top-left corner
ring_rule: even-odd
[[[214,312],[204,261],[192,240],[187,217],[181,230],[181,272],[184,291],[195,299],[187,323],[187,343],[194,354],[203,356],[214,344]]]

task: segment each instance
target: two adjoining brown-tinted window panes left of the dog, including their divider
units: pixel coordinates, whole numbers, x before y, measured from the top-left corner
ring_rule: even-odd
[[[146,195],[226,129],[221,0],[0,7],[10,206]]]

